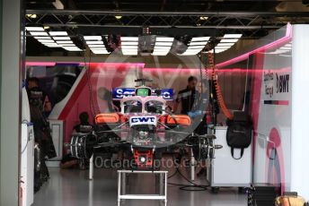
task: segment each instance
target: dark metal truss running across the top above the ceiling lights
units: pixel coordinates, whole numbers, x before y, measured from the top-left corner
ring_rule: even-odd
[[[309,23],[309,13],[250,13],[250,12],[106,12],[75,10],[27,10],[38,18],[26,16],[26,24],[42,24],[49,27],[100,28],[100,29],[216,29],[218,33],[237,30],[254,36],[259,30],[276,30],[287,22]],[[121,16],[121,19],[115,18]],[[206,17],[202,20],[200,17]],[[248,33],[249,32],[249,33]]]

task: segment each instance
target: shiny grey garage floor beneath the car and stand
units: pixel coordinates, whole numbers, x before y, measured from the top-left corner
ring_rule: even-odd
[[[111,169],[95,169],[94,180],[87,180],[88,170],[49,168],[49,183],[43,185],[35,194],[33,206],[102,206],[117,205],[117,172]],[[189,176],[189,172],[183,171]],[[172,171],[169,173],[172,174]],[[130,193],[154,193],[155,182],[152,176],[132,176],[129,178]],[[186,184],[181,176],[173,176],[171,183]],[[206,184],[206,178],[201,177],[199,184]],[[158,206],[158,201],[125,201],[126,206]],[[247,205],[245,194],[237,189],[224,188],[218,194],[209,190],[202,192],[181,191],[179,186],[168,186],[169,206],[242,206]]]

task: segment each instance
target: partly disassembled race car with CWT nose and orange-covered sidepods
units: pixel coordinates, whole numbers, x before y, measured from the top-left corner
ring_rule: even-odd
[[[146,87],[145,81],[137,80],[143,85],[120,100],[119,113],[98,114],[90,133],[73,135],[74,157],[90,159],[95,150],[117,147],[131,160],[131,169],[155,169],[154,159],[180,147],[191,147],[197,160],[214,157],[215,149],[220,148],[214,143],[216,137],[194,133],[190,116],[165,109],[162,90]]]

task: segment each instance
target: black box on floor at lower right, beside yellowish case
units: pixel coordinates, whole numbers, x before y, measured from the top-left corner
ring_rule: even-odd
[[[274,206],[278,185],[253,184],[248,191],[248,206]]]

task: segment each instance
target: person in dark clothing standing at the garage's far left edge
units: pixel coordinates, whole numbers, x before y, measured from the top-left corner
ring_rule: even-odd
[[[32,77],[28,79],[28,98],[30,103],[31,122],[33,123],[35,142],[40,147],[40,173],[34,176],[34,190],[37,192],[40,186],[48,181],[49,169],[45,164],[45,159],[55,158],[56,150],[50,135],[49,123],[44,112],[49,112],[51,105],[49,97],[39,87],[39,79]]]

